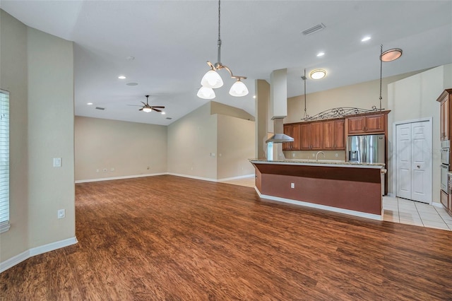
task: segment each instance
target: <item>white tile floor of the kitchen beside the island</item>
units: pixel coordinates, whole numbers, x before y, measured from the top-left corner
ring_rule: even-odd
[[[383,196],[383,220],[452,230],[452,216],[444,208],[391,196]]]

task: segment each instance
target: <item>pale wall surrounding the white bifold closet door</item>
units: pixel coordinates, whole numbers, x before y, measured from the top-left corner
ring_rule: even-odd
[[[452,88],[452,64],[410,76],[388,85],[388,189],[393,187],[393,124],[432,117],[432,179],[433,201],[440,202],[440,143],[439,143],[439,102],[438,96],[446,88]]]

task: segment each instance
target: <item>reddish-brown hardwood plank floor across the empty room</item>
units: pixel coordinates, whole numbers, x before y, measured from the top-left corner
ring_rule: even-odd
[[[78,244],[0,274],[0,300],[452,300],[452,232],[162,175],[76,184]]]

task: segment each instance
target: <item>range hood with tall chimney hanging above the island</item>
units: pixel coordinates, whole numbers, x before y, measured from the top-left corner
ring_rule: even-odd
[[[270,114],[273,120],[273,136],[266,143],[292,142],[294,138],[284,134],[284,117],[287,116],[287,69],[270,74]]]

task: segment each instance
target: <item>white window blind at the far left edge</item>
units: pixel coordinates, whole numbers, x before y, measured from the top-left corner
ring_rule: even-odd
[[[0,90],[0,233],[9,229],[9,93]]]

